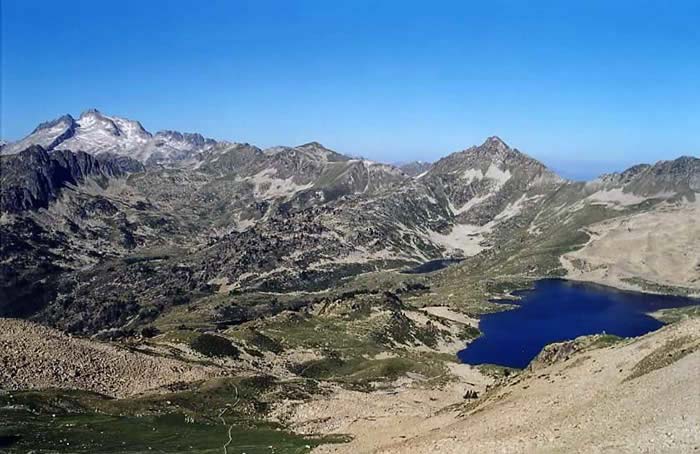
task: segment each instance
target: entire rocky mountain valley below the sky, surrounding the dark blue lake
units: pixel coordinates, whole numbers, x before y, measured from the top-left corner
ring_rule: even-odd
[[[700,445],[698,158],[575,182],[498,137],[396,167],[91,109],[0,166],[8,452]],[[460,361],[487,314],[567,280],[644,292],[646,328]]]

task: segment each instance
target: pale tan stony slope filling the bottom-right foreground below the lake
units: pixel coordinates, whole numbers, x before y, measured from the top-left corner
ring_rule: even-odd
[[[612,346],[550,354],[478,403],[446,407],[454,396],[427,392],[340,394],[302,407],[297,424],[322,414],[341,421],[326,423],[332,432],[355,436],[319,453],[696,452],[699,349],[700,320],[690,319]]]

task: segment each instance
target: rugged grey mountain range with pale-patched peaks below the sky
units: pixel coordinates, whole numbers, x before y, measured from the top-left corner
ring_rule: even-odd
[[[573,269],[562,257],[591,225],[694,207],[700,192],[689,156],[571,182],[498,137],[399,168],[316,142],[152,134],[94,109],[41,123],[1,155],[0,315],[84,333],[148,323],[174,295],[323,290],[445,257],[522,278],[585,275],[583,258]],[[620,272],[617,285],[642,279]],[[634,285],[700,288],[659,276]]]

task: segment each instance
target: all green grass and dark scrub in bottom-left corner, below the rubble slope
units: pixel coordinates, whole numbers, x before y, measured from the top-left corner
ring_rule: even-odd
[[[307,388],[260,376],[118,400],[81,391],[4,393],[0,448],[7,453],[220,453],[229,424],[233,441],[228,452],[303,453],[321,443],[345,441],[299,436],[263,421],[268,394],[270,399],[299,398],[308,396]],[[218,417],[223,409],[226,425]]]

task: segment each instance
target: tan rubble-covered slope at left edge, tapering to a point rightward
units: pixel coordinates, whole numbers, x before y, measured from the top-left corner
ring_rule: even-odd
[[[215,367],[0,319],[0,389],[71,388],[124,397],[220,374]]]

